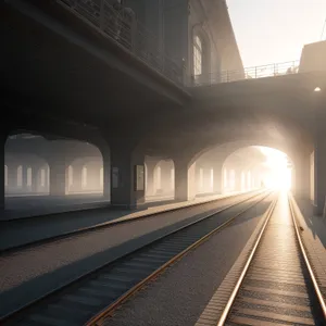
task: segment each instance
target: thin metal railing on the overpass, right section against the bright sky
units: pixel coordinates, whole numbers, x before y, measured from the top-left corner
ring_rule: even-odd
[[[299,61],[273,63],[267,65],[248,67],[241,71],[223,71],[220,73],[202,74],[192,76],[190,86],[205,86],[221,83],[230,83],[244,79],[256,79],[264,77],[276,77],[281,75],[297,74]]]

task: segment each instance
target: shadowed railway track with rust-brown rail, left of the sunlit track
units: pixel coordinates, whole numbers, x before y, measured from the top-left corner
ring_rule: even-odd
[[[100,325],[146,283],[271,195],[260,192],[180,227],[4,316],[0,324]],[[223,212],[240,204],[246,208],[221,222]]]

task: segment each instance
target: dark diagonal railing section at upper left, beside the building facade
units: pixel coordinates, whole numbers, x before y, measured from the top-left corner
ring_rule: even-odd
[[[131,9],[108,0],[57,0],[86,18],[111,40],[168,79],[184,86],[184,66],[165,55],[158,37],[136,20]]]

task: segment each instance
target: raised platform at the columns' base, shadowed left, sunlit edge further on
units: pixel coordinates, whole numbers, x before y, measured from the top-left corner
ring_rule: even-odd
[[[98,208],[95,210],[49,214],[45,216],[29,217],[0,222],[0,251],[13,247],[23,246],[34,241],[57,237],[64,234],[78,231],[86,228],[96,228],[122,221],[149,216],[160,212],[168,212],[178,208],[209,202],[229,195],[214,195],[197,198],[192,201],[166,203],[165,201],[152,203],[154,205],[137,211],[117,210],[111,208]]]

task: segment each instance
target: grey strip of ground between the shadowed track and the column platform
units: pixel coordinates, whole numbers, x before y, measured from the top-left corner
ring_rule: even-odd
[[[237,198],[237,201],[251,196],[253,193],[243,193]],[[2,280],[0,283],[0,301],[2,303],[0,315],[4,315],[13,309],[179,227],[193,223],[215,212],[216,209],[229,205],[234,201],[233,197],[228,197],[204,205],[191,206],[191,203],[187,203],[188,208],[185,210],[167,211],[160,216],[134,218],[127,224],[117,224],[114,227],[58,239],[45,246],[4,253],[0,260],[0,279]],[[183,205],[183,203],[176,205]],[[163,211],[163,208],[161,210]],[[240,208],[237,206],[234,211],[228,211],[221,217],[221,223],[238,210]],[[97,214],[92,217],[96,216]],[[108,218],[108,212],[102,217]],[[127,217],[123,216],[122,218]],[[4,235],[3,229],[1,233]],[[25,233],[27,233],[26,229]],[[23,234],[21,233],[21,236]]]

